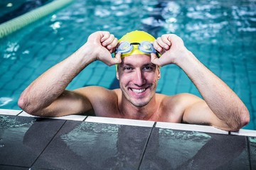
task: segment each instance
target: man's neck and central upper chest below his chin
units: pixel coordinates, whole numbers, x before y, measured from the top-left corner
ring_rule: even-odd
[[[159,105],[156,103],[156,96],[154,96],[146,106],[142,107],[134,106],[122,96],[122,100],[119,103],[119,111],[122,118],[153,120],[159,113]]]

